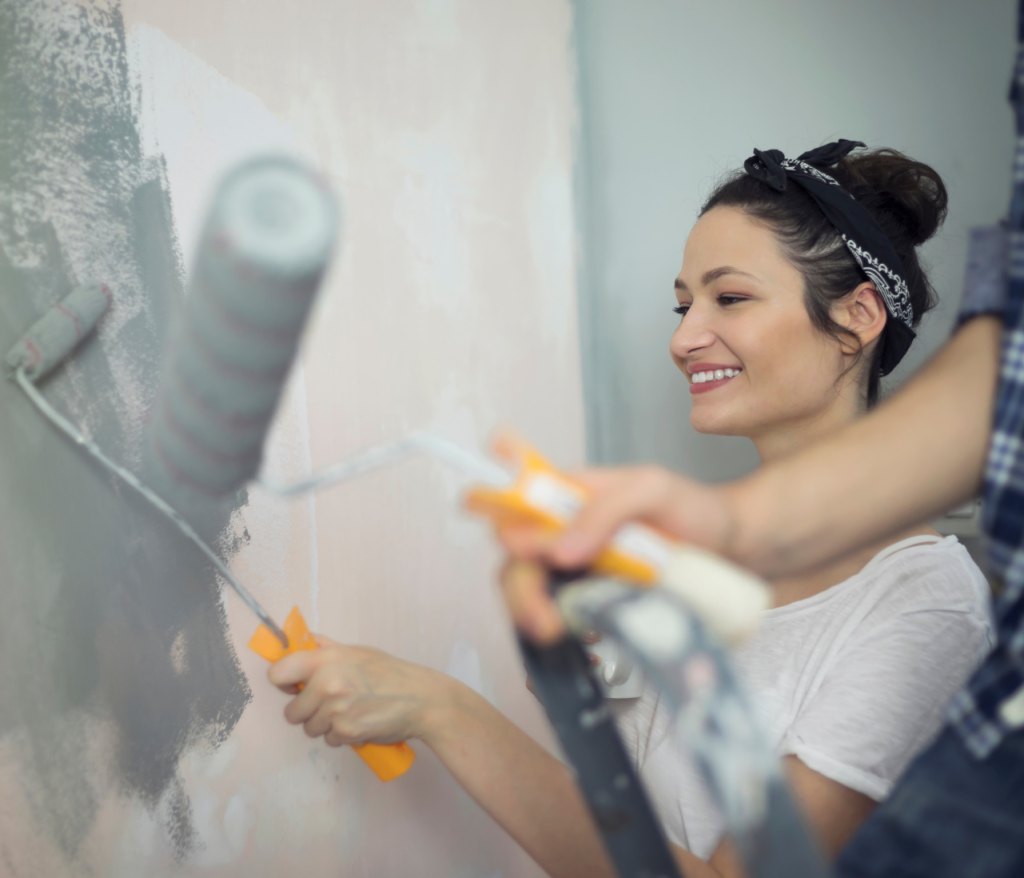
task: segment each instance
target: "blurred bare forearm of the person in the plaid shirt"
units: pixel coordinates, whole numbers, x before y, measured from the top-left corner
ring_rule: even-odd
[[[800,572],[975,496],[1000,331],[994,318],[971,321],[876,411],[724,489],[728,554],[767,576]]]

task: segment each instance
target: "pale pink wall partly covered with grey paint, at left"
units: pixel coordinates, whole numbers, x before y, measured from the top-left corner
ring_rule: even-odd
[[[581,462],[570,48],[564,0],[0,0],[0,349],[105,280],[45,391],[144,469],[206,199],[288,150],[345,232],[269,471],[499,421]],[[279,619],[446,669],[550,743],[460,487],[410,461],[195,514]],[[248,611],[8,382],[0,521],[0,875],[539,874],[424,748],[384,786],[285,723]]]

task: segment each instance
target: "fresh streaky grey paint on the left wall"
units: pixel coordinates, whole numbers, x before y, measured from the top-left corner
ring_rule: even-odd
[[[77,283],[110,284],[98,335],[42,386],[143,472],[161,342],[182,297],[166,192],[160,163],[141,156],[117,6],[0,0],[0,350]],[[245,500],[187,512],[216,540]],[[250,699],[212,571],[10,382],[0,521],[0,735],[34,818],[74,861],[103,797],[137,797],[183,854],[178,760],[222,742]],[[110,765],[95,761],[100,727],[116,735]]]

